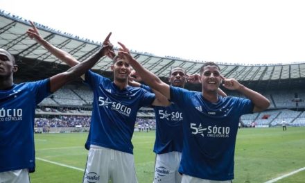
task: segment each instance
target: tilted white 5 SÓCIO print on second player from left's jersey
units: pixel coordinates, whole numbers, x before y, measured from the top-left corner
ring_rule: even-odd
[[[109,100],[109,98],[104,98],[102,96],[98,98],[98,102],[99,106],[106,107],[107,109],[110,108],[111,110],[119,112],[125,116],[130,116],[131,108],[123,105],[122,103],[112,102]]]

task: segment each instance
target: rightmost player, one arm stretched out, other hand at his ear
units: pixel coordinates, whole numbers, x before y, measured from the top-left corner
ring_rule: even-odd
[[[183,150],[179,171],[182,183],[221,182],[234,179],[234,149],[241,115],[265,110],[270,101],[235,79],[221,76],[214,62],[200,69],[202,92],[191,92],[162,82],[132,58],[121,43],[119,57],[128,62],[143,82],[173,101],[183,113]],[[234,89],[247,98],[222,97],[220,84]]]

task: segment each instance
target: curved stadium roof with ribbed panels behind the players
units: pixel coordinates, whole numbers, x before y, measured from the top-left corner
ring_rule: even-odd
[[[67,51],[80,62],[98,51],[101,42],[80,39],[60,30],[36,24],[45,40],[58,48]],[[26,30],[30,28],[27,20],[0,11],[0,46],[10,51],[20,68],[19,78],[46,78],[67,69],[67,64],[55,58],[40,44],[30,40]],[[132,51],[134,58],[146,69],[166,80],[173,67],[183,67],[187,73],[198,73],[204,62],[195,62],[173,57],[159,57],[150,53]],[[110,58],[101,58],[93,67],[94,71],[112,78]],[[219,63],[221,72],[226,78],[236,78],[243,84],[256,89],[304,88],[305,63],[296,64],[225,64]],[[187,87],[187,86],[186,86]],[[198,88],[197,88],[198,89]]]

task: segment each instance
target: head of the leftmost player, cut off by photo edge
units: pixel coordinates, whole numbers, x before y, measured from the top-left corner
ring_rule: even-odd
[[[3,49],[0,50],[0,76],[11,76],[17,71],[17,66],[10,60],[10,55]]]

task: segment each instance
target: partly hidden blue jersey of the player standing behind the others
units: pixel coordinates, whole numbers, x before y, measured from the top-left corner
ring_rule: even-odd
[[[141,85],[151,92],[150,87]],[[156,154],[182,152],[183,128],[182,112],[175,103],[168,107],[153,106],[156,116],[156,139],[154,152]]]

